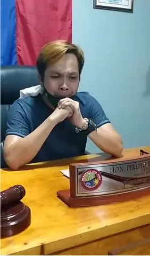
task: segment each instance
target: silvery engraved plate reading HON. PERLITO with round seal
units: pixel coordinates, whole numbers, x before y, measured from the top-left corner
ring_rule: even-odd
[[[76,196],[123,193],[149,185],[150,157],[143,161],[76,166]]]

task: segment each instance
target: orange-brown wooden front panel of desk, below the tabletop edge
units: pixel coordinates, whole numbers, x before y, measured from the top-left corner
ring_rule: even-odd
[[[108,255],[108,252],[110,252],[109,255],[134,255],[132,253],[127,253],[134,251],[138,252],[141,250],[146,251],[148,246],[150,246],[150,244],[148,243],[149,240],[150,225],[146,225],[143,227],[124,231],[122,233],[115,234],[109,237],[104,237],[84,245],[75,246],[68,250],[55,252],[51,255]],[[141,246],[140,243],[143,243],[144,245]],[[120,252],[122,252],[122,254]]]

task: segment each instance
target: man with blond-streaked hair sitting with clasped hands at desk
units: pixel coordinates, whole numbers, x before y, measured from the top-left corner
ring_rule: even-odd
[[[99,103],[77,92],[84,53],[66,41],[48,43],[37,58],[44,93],[16,100],[7,120],[4,158],[13,170],[31,162],[85,154],[87,137],[120,157],[122,140]]]

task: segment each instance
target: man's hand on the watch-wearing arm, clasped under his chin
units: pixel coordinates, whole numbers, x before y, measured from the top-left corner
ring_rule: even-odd
[[[70,98],[64,98],[59,101],[58,108],[59,109],[65,109],[66,107],[70,107],[73,111],[73,114],[71,117],[69,117],[70,122],[78,127],[82,128],[85,124],[85,119],[82,117],[81,112],[80,112],[80,106],[79,102],[72,100]]]

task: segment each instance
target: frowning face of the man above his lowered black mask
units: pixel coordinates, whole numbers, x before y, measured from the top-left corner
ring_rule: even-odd
[[[77,57],[66,53],[45,70],[44,86],[54,96],[71,97],[78,90],[79,67]]]

